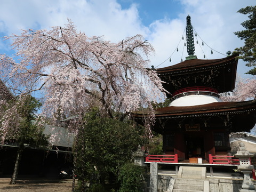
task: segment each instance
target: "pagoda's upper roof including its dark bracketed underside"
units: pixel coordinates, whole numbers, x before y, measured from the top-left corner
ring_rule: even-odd
[[[207,86],[219,93],[235,88],[238,55],[221,59],[190,59],[176,65],[158,68],[156,73],[161,78],[164,88],[172,97],[175,91],[186,87]]]

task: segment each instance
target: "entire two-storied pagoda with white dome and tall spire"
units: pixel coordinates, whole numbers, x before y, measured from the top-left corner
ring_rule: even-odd
[[[163,135],[165,154],[178,154],[179,159],[228,155],[229,133],[250,131],[255,125],[256,100],[222,102],[219,93],[235,88],[237,55],[197,59],[189,15],[186,35],[186,60],[156,69],[172,102],[155,110],[153,130]],[[140,113],[134,117],[143,118]]]

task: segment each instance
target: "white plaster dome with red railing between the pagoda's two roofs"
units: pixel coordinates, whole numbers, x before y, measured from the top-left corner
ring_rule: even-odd
[[[189,89],[182,89],[174,94],[173,99],[169,106],[185,107],[222,102],[219,99],[218,92],[209,87],[189,87]]]

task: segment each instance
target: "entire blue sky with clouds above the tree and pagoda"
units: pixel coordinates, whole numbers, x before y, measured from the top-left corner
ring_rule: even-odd
[[[187,56],[185,42],[179,41],[188,14],[202,38],[196,45],[198,59],[204,54],[207,59],[222,58],[225,55],[215,51],[211,54],[211,50],[225,54],[243,45],[234,32],[243,29],[241,22],[247,17],[237,11],[249,5],[256,5],[256,0],[2,0],[0,36],[19,35],[20,29],[63,26],[69,18],[86,35],[103,35],[113,42],[143,35],[155,48],[151,65],[166,67]],[[202,46],[202,41],[211,48]],[[0,54],[11,53],[10,43],[0,41]],[[177,46],[179,52],[175,51]],[[249,70],[244,62],[238,63],[238,74],[251,77],[243,75]]]

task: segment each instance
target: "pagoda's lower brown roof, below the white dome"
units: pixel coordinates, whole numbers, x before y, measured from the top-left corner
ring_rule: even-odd
[[[143,111],[134,113],[135,121],[140,121]],[[250,131],[256,123],[256,100],[239,102],[213,102],[205,105],[186,107],[164,107],[155,109],[156,122],[168,119],[225,117],[232,122],[232,132]]]

